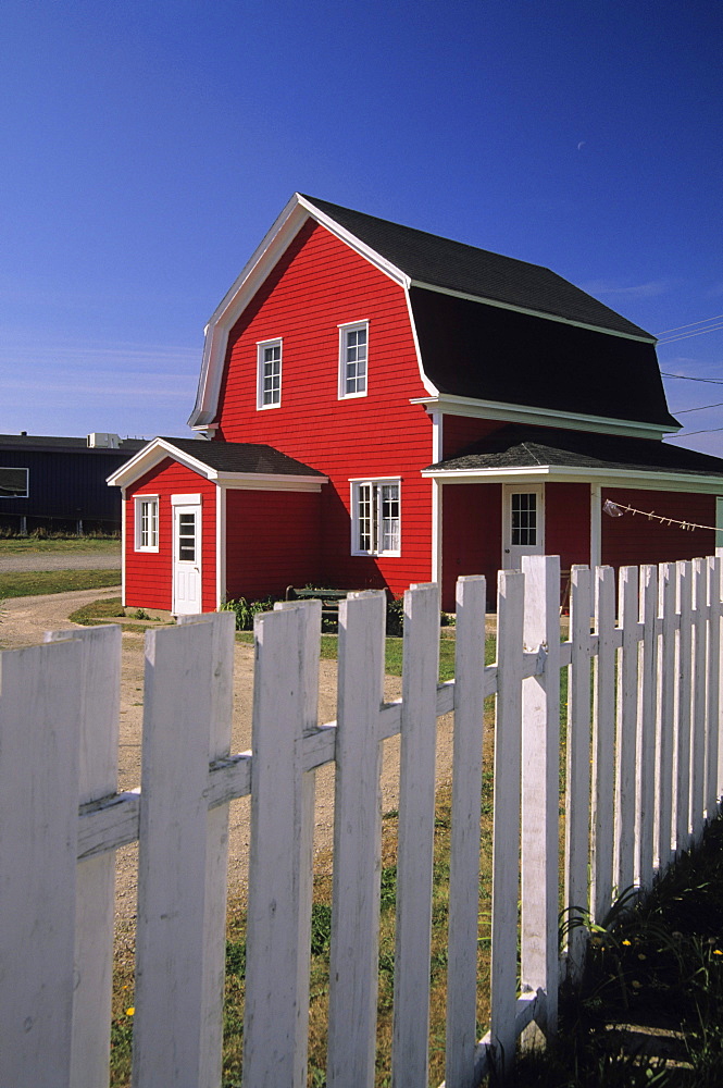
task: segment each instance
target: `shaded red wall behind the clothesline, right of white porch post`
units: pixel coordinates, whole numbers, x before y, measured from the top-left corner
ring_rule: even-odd
[[[607,498],[663,518],[674,518],[676,521],[715,524],[714,495],[604,487],[602,502]],[[696,529],[690,532],[681,526],[662,526],[659,521],[649,521],[640,515],[624,514],[622,518],[602,515],[602,562],[608,566],[670,562],[714,554],[715,533],[710,530]]]

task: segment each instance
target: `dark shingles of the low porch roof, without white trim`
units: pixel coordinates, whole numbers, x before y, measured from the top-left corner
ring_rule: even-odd
[[[639,469],[723,477],[723,458],[699,454],[653,438],[626,438],[556,428],[500,428],[457,457],[431,466],[462,469],[529,469],[540,466],[590,469]]]

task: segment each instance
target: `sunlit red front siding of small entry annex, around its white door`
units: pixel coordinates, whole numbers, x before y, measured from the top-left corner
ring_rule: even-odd
[[[166,457],[136,481],[126,493],[125,604],[142,608],[173,608],[172,495],[201,495],[201,580],[203,610],[216,607],[215,484]],[[159,496],[159,551],[136,552],[136,495]]]

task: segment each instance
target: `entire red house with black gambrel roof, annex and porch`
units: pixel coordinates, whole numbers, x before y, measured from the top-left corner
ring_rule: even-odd
[[[653,336],[548,269],[299,194],[209,322],[189,423],[109,480],[127,605],[438,580],[451,609],[524,554],[658,562],[723,527],[723,459],[662,442]]]

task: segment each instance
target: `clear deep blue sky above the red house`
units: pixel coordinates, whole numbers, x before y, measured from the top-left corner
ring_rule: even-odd
[[[720,0],[2,0],[0,432],[188,433],[295,190],[689,326],[670,407],[723,401],[721,57]]]

